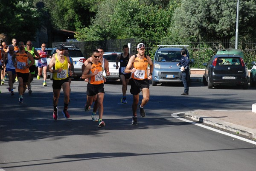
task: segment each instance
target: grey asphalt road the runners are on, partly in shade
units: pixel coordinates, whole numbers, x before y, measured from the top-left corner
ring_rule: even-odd
[[[42,79],[42,78],[41,78]],[[204,129],[171,116],[196,109],[251,109],[255,88],[208,89],[191,83],[189,95],[183,86],[150,87],[146,117],[131,125],[131,102],[121,104],[121,84],[105,84],[106,126],[98,128],[84,112],[86,83],[71,83],[70,119],[52,118],[52,87],[32,82],[32,95],[26,92],[18,104],[8,86],[0,86],[0,168],[6,171],[255,171],[256,147],[232,137]],[[140,95],[140,99],[142,95]],[[91,109],[92,110],[92,109]]]

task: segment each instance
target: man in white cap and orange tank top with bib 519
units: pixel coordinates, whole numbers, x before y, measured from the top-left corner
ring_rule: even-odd
[[[141,117],[145,117],[145,111],[143,107],[149,101],[149,80],[152,79],[153,63],[149,56],[145,55],[145,45],[140,43],[137,45],[138,53],[131,56],[129,62],[125,68],[125,73],[131,74],[131,94],[133,95],[132,104],[132,125],[137,125],[137,106],[139,103],[140,90],[142,91],[143,99],[140,108]],[[150,73],[148,74],[148,64],[150,67]],[[132,69],[130,69],[132,68]]]

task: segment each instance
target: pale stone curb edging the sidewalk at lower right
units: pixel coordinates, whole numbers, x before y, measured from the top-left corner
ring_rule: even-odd
[[[215,118],[208,119],[209,117],[207,117],[207,116],[198,117],[198,116],[194,115],[194,112],[186,112],[184,115],[192,120],[195,120],[195,121],[198,121],[201,123],[207,123],[209,125],[212,125],[212,126],[215,126],[215,127],[221,128],[221,129],[225,129],[225,130],[232,131],[235,133],[238,132],[239,135],[245,135],[248,137],[256,138],[255,130],[245,127],[245,126],[240,126],[240,125],[236,125],[236,124],[233,124],[230,122],[220,121]]]

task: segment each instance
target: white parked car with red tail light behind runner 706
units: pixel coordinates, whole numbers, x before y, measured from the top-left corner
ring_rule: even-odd
[[[82,75],[82,65],[84,64],[84,61],[86,60],[84,58],[83,53],[76,45],[63,45],[64,48],[68,48],[69,56],[73,59],[73,65],[74,65],[74,71],[76,78],[80,78]],[[56,46],[52,48],[51,53],[49,54],[52,56],[54,53],[56,53]],[[47,75],[50,75],[50,73],[47,73]]]

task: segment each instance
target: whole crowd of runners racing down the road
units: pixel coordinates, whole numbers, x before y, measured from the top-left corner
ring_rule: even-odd
[[[17,45],[16,45],[17,44]],[[68,49],[62,45],[56,47],[56,53],[51,56],[51,60],[47,65],[47,57],[49,54],[45,50],[46,44],[41,45],[41,50],[35,50],[31,41],[18,42],[12,39],[12,45],[7,46],[6,42],[0,45],[1,63],[1,85],[6,84],[6,75],[8,76],[8,90],[11,95],[15,95],[13,84],[18,81],[18,102],[23,103],[23,95],[28,89],[29,95],[32,94],[31,83],[35,75],[35,59],[38,59],[38,76],[40,79],[42,72],[44,73],[43,86],[47,86],[46,72],[52,73],[52,91],[53,91],[53,119],[58,120],[58,99],[61,89],[64,93],[64,109],[62,114],[64,118],[70,118],[68,112],[68,104],[70,102],[70,82],[73,74],[72,58],[68,56]],[[116,70],[119,70],[119,77],[122,81],[122,104],[127,104],[126,91],[128,82],[131,81],[130,93],[133,95],[132,102],[132,125],[137,125],[137,107],[140,109],[141,117],[145,117],[144,106],[149,101],[149,80],[152,79],[153,63],[151,58],[145,55],[145,45],[140,43],[137,45],[137,54],[128,53],[127,45],[123,46],[123,53],[116,58]],[[104,82],[106,76],[110,75],[108,60],[103,58],[104,50],[97,47],[92,51],[90,56],[83,64],[81,78],[87,82],[87,100],[84,110],[87,112],[93,105],[91,115],[92,121],[98,122],[98,127],[105,126],[103,117],[103,99],[104,99]],[[118,63],[120,62],[120,66]],[[150,72],[148,73],[148,66]],[[143,99],[139,102],[139,95],[142,92]],[[94,103],[94,104],[93,104]],[[98,110],[99,119],[96,116]]]

